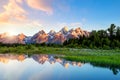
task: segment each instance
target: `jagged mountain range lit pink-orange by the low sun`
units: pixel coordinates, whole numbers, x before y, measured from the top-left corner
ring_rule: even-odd
[[[68,29],[67,27],[62,28],[59,32],[51,30],[46,33],[44,30],[39,31],[33,36],[26,36],[23,33],[8,36],[8,33],[0,34],[0,43],[4,44],[29,44],[29,43],[55,43],[62,44],[65,40],[71,38],[79,38],[79,36],[89,37],[90,33],[88,31],[82,30],[81,28]]]

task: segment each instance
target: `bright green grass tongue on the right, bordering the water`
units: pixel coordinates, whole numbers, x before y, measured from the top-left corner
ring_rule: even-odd
[[[120,67],[120,56],[64,56],[71,61],[90,62],[104,67]]]

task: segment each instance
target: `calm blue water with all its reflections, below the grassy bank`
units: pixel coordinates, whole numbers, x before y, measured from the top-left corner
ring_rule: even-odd
[[[0,54],[0,80],[120,80],[119,71],[51,55]]]

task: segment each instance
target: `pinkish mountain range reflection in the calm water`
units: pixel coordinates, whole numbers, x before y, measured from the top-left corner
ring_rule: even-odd
[[[52,55],[45,55],[45,54],[35,54],[32,55],[31,57],[28,57],[27,55],[13,55],[13,54],[0,54],[0,62],[3,62],[7,64],[10,60],[17,60],[17,61],[24,61],[27,58],[33,58],[36,62],[40,64],[44,64],[46,61],[48,61],[50,64],[55,64],[56,62],[60,63],[63,65],[65,68],[68,68],[69,65],[73,66],[82,66],[83,63],[81,62],[75,62],[75,61],[66,61],[64,59],[60,58],[54,58]]]

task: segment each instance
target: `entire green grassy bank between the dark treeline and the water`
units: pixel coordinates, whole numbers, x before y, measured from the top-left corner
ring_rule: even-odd
[[[0,47],[0,53],[59,54],[72,61],[90,62],[94,65],[120,67],[120,50],[74,49],[36,46]]]

